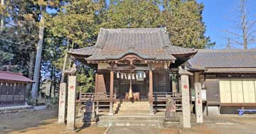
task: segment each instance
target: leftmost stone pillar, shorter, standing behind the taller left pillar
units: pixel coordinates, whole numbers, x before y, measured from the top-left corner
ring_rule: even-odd
[[[60,83],[58,123],[65,123],[67,103],[67,83]]]

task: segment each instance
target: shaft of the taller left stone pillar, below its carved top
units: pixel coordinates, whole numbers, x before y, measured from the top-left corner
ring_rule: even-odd
[[[75,129],[75,89],[76,76],[68,77],[68,113],[67,113],[67,128]]]

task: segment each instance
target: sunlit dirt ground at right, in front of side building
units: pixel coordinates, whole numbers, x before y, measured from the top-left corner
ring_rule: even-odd
[[[164,128],[160,134],[255,134],[256,116],[221,115],[204,117],[203,124],[189,129]]]

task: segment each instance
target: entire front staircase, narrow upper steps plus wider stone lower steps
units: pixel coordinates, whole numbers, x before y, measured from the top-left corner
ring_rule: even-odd
[[[164,127],[164,115],[149,115],[149,102],[117,102],[113,105],[114,116],[98,117],[97,126],[110,125]]]

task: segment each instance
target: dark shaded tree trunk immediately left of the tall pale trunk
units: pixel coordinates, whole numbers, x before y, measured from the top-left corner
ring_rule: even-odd
[[[28,69],[28,78],[29,79],[33,79],[33,68],[34,68],[34,60],[35,60],[35,52],[32,51],[29,53],[29,69]],[[26,95],[28,96],[30,91],[31,91],[31,86],[32,84],[29,83],[27,86],[26,86]]]

